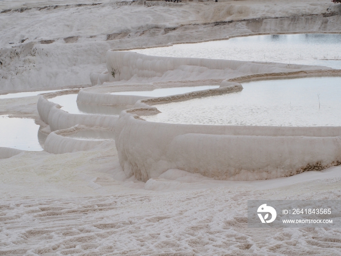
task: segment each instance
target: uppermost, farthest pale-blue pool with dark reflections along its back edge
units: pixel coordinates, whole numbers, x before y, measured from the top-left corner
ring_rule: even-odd
[[[236,59],[341,69],[341,34],[264,35],[132,50],[164,57]]]

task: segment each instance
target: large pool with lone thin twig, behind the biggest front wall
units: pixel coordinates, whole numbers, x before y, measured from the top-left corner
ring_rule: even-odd
[[[240,92],[154,105],[148,121],[259,126],[341,126],[341,78],[242,83]]]

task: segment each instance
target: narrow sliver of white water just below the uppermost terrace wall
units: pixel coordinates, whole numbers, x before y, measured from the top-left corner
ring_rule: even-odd
[[[130,92],[114,92],[114,95],[134,95],[134,96],[151,96],[151,97],[165,97],[176,94],[190,93],[194,91],[203,91],[208,89],[219,88],[219,85],[204,85],[192,87],[173,87],[173,88],[160,88],[152,91],[130,91]]]

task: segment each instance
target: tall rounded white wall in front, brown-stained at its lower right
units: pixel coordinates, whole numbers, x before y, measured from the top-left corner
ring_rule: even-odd
[[[123,111],[117,121],[116,148],[127,176],[143,181],[169,169],[254,180],[341,163],[341,127],[169,124],[129,112],[134,109]]]

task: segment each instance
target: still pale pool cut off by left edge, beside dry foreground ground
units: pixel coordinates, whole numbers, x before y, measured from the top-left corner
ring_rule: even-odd
[[[0,116],[0,147],[41,151],[43,141],[39,143],[38,133],[39,125],[33,119]],[[43,136],[39,137],[41,140]]]

